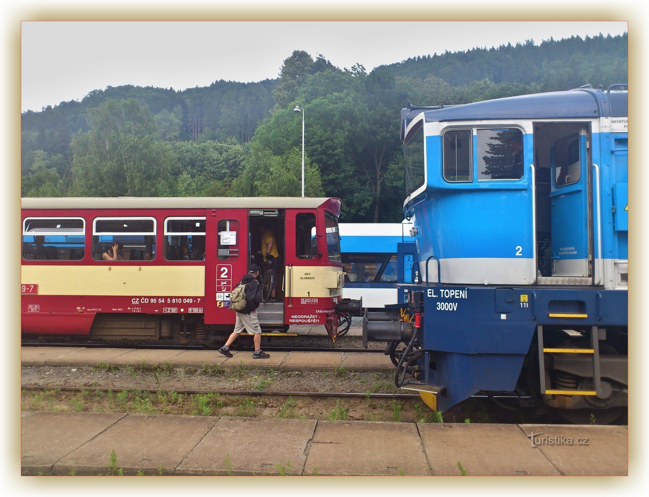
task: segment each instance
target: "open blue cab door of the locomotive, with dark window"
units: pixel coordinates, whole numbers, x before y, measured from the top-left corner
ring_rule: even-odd
[[[582,127],[552,147],[552,276],[591,276],[587,140]]]

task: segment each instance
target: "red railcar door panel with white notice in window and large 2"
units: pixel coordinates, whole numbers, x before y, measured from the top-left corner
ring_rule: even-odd
[[[248,211],[208,209],[205,217],[205,323],[234,325],[230,293],[248,269]]]

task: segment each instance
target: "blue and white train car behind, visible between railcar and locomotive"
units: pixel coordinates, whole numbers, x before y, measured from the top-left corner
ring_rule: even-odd
[[[364,308],[383,308],[406,301],[407,292],[395,283],[417,278],[413,224],[341,223],[340,251],[345,266],[343,298],[363,299]]]

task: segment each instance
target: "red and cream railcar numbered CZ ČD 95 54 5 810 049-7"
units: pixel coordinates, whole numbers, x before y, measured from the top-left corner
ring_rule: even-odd
[[[337,336],[339,198],[23,198],[21,329],[97,338],[223,336],[230,292],[260,249],[280,254],[266,330]],[[119,243],[119,260],[105,260]],[[282,268],[284,269],[282,271]]]

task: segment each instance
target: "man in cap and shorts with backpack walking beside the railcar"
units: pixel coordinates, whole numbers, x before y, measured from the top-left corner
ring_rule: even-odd
[[[236,311],[236,322],[234,324],[234,331],[228,337],[225,345],[219,349],[219,352],[224,356],[232,357],[230,352],[230,345],[236,340],[243,330],[246,330],[252,335],[254,342],[253,359],[267,359],[270,354],[262,351],[262,327],[259,325],[257,318],[257,308],[262,301],[262,286],[259,284],[257,277],[259,276],[259,266],[251,264],[248,266],[248,273],[245,275],[239,284],[245,285],[245,303],[246,306],[241,311]]]

